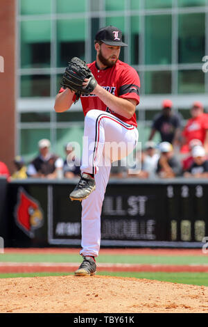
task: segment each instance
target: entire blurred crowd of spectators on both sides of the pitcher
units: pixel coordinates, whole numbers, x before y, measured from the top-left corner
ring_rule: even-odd
[[[121,159],[112,164],[110,178],[208,177],[208,113],[200,102],[194,102],[190,114],[183,126],[182,115],[174,112],[171,100],[165,99],[161,113],[153,119],[148,141],[135,152],[134,166],[129,167]],[[159,143],[153,141],[157,133]],[[73,178],[80,174],[80,158],[76,157],[73,143],[64,145],[64,159],[51,152],[51,143],[46,138],[38,142],[37,152],[27,165],[23,157],[15,157],[12,174],[0,161],[0,175],[8,180],[21,180]]]

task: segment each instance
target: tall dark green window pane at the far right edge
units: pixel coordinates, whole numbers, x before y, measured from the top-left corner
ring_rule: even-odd
[[[205,55],[205,14],[179,15],[178,62],[201,63]]]

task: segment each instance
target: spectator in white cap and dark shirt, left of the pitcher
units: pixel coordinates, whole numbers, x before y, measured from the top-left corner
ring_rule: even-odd
[[[38,142],[39,154],[28,165],[29,177],[60,178],[62,176],[63,160],[50,152],[51,143],[43,138]]]

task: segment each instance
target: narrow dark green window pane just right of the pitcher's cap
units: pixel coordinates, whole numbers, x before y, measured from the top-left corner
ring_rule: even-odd
[[[132,16],[130,17],[131,24],[131,63],[132,65],[139,64],[139,17]]]

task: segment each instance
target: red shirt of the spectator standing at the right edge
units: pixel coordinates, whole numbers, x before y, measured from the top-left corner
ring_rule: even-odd
[[[189,142],[193,138],[197,138],[204,144],[206,130],[208,129],[208,114],[202,113],[196,118],[190,118],[187,122],[187,125],[182,132],[182,135],[186,138],[187,144],[182,146],[181,152],[189,151]]]

